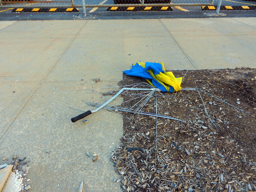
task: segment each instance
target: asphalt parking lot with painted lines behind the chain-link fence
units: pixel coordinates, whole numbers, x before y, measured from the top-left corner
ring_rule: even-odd
[[[23,6],[27,6],[27,7],[33,7],[33,6],[37,6],[40,7],[42,5],[42,7],[44,6],[49,6],[49,8],[51,7],[59,7],[59,6],[70,6],[72,5],[72,1],[74,4],[74,7],[77,7],[76,5],[82,5],[83,4],[83,0],[70,0],[70,1],[61,1],[61,0],[47,0],[47,1],[42,1],[42,0],[37,0],[37,1],[33,1],[33,2],[18,2],[18,3],[8,3],[8,4],[4,4],[4,5],[12,5],[12,8],[0,8],[0,19],[1,20],[5,20],[5,18],[3,17],[23,17],[22,14],[20,13],[12,13],[13,8],[18,8],[20,5]],[[86,5],[104,5],[104,4],[112,4],[113,0],[85,0],[85,4]],[[180,1],[180,0],[172,0],[171,4],[177,4],[177,3],[201,3],[201,4],[206,4],[209,3],[208,0],[184,0],[184,1]],[[214,5],[218,5],[218,0],[214,0]],[[222,4],[223,6],[256,6],[256,2],[255,1],[243,1],[243,0],[222,0]],[[198,17],[198,15],[202,15],[205,13],[202,12],[202,7],[201,6],[171,6],[173,8],[173,11],[171,12],[171,17]],[[80,13],[81,14],[83,12],[81,7],[78,7]],[[112,13],[107,13],[106,12],[107,7],[87,7],[86,8],[86,12],[88,14],[88,16],[91,16],[92,18],[98,17],[98,16],[109,16],[109,17],[115,17],[115,16],[120,16],[120,13],[117,12],[112,12]],[[210,11],[215,11],[215,10],[210,10]],[[231,11],[231,10],[230,10]],[[175,13],[177,12],[177,13]],[[199,12],[199,13],[198,13]],[[201,13],[200,13],[201,12]],[[237,11],[231,11],[234,12],[232,13],[233,15],[238,15],[238,16],[255,16],[256,11],[242,11],[242,13],[236,13]],[[250,13],[248,13],[250,12]],[[163,15],[165,15],[164,18],[169,18],[170,17],[170,12],[160,12],[161,16],[157,17],[158,14],[157,12],[151,12],[151,13],[145,13],[145,12],[139,12],[139,16],[141,16],[142,18],[148,17],[150,16],[150,18],[162,18]],[[18,16],[17,16],[18,14]],[[58,14],[52,14],[51,15],[58,15]],[[78,13],[72,13],[72,16],[79,16]],[[125,15],[126,13],[124,13]],[[25,14],[26,15],[26,14]],[[32,14],[33,15],[33,14]],[[29,14],[29,16],[32,16],[31,14]],[[65,15],[65,14],[62,14]],[[127,13],[127,15],[137,15],[134,13]],[[168,16],[169,15],[169,16]],[[176,16],[173,16],[176,15]],[[181,15],[181,16],[180,16]],[[229,12],[230,15],[230,12]],[[61,17],[61,15],[59,14],[59,16]],[[153,16],[153,17],[151,17]],[[154,17],[155,16],[155,17]],[[200,16],[199,16],[200,17]],[[74,17],[71,19],[74,19]]]

